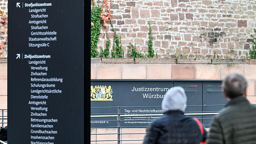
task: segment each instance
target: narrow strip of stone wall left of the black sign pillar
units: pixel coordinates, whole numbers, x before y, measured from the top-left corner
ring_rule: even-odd
[[[8,16],[8,0],[0,0],[0,9],[5,12],[5,15]],[[2,17],[0,16],[0,19]],[[3,44],[3,48],[0,47],[0,58],[7,57],[7,19],[5,19],[5,24],[0,22],[0,43]]]

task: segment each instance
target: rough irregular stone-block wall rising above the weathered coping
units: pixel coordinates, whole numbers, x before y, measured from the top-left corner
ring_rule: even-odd
[[[252,47],[256,2],[253,0],[113,0],[113,24],[122,37],[125,56],[129,43],[147,53],[148,24],[158,58],[246,58]],[[109,25],[110,26],[110,25]],[[98,46],[105,48],[109,26],[103,28]],[[180,52],[183,50],[183,52]],[[195,54],[197,53],[197,54]]]

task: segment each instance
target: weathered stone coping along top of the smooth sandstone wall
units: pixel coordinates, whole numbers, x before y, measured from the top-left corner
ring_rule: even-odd
[[[256,59],[91,58],[91,63],[256,64]]]

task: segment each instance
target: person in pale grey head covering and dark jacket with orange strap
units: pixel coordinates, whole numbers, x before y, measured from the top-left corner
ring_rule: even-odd
[[[162,101],[164,115],[147,128],[143,144],[200,144],[207,137],[198,119],[184,115],[187,96],[182,87],[170,88]]]

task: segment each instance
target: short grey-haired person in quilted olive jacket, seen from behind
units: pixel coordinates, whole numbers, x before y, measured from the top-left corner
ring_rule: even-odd
[[[256,106],[246,99],[246,79],[232,73],[222,86],[229,102],[213,119],[207,144],[255,144]]]

